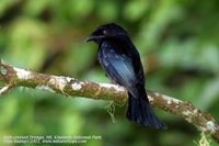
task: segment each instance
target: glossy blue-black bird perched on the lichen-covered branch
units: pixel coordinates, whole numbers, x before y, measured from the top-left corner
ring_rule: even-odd
[[[97,58],[113,83],[128,90],[128,120],[155,128],[166,128],[152,112],[145,89],[145,75],[140,55],[128,33],[114,23],[99,26],[87,42],[99,45]]]

